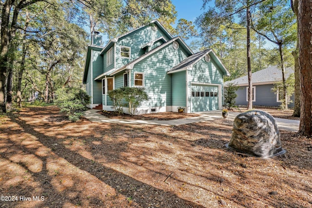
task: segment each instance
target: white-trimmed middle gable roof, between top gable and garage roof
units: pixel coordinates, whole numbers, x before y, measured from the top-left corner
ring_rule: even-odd
[[[99,75],[98,77],[96,77],[94,80],[98,80],[98,79],[101,79],[103,76],[113,76],[113,75],[116,75],[117,73],[119,72],[122,72],[123,70],[126,70],[126,69],[133,69],[134,65],[136,63],[138,63],[139,61],[143,60],[144,58],[146,57],[149,57],[151,55],[153,55],[154,53],[156,53],[157,51],[163,49],[164,47],[166,47],[167,45],[173,43],[174,41],[178,41],[180,46],[182,46],[187,53],[189,53],[189,55],[193,55],[193,51],[186,45],[186,43],[178,36],[176,38],[173,38],[163,44],[161,44],[160,46],[157,46],[156,48],[154,48],[153,50],[151,50],[150,52],[140,56],[140,57],[137,57],[136,59],[134,59],[133,61],[127,63],[126,65],[120,67],[119,69],[116,69],[116,70],[110,70],[108,72],[105,72],[101,75]]]

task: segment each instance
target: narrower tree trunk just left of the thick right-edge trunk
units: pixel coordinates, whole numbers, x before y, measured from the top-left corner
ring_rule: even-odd
[[[298,0],[291,0],[292,10],[297,17],[297,44],[292,52],[294,59],[294,107],[292,116],[300,117],[300,78],[299,78],[299,24],[298,24]]]

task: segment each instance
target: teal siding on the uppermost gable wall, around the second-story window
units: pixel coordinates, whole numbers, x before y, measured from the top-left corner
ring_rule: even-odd
[[[130,33],[129,35],[123,38],[120,38],[116,43],[116,68],[118,69],[123,65],[133,61],[137,57],[140,57],[143,54],[145,54],[145,50],[141,49],[141,47],[161,36],[170,39],[170,37],[167,37],[159,29],[155,31],[152,29],[151,26],[147,25],[143,28],[140,28]],[[120,57],[120,46],[131,47],[130,58]]]

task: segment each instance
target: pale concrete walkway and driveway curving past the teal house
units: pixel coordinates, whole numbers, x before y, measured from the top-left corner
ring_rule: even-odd
[[[85,117],[92,122],[100,123],[114,123],[114,124],[149,124],[149,125],[163,125],[163,126],[178,126],[184,124],[191,124],[204,121],[212,121],[215,118],[222,118],[222,111],[208,111],[208,112],[199,112],[200,116],[182,118],[176,120],[128,120],[128,119],[110,119],[106,116],[103,116],[97,113],[98,110],[89,109],[85,112]],[[229,112],[228,120],[234,121],[234,118],[239,113]],[[299,121],[289,120],[283,118],[275,118],[276,123],[279,129],[288,130],[292,132],[298,132]]]

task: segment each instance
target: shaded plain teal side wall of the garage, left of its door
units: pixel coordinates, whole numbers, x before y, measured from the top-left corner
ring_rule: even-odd
[[[186,73],[176,72],[171,74],[172,105],[186,107]]]

